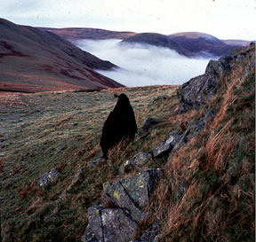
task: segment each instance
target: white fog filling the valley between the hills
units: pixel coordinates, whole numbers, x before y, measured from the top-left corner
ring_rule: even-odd
[[[121,40],[84,40],[76,45],[119,68],[97,70],[127,87],[173,85],[204,74],[210,59],[189,59],[176,51],[148,44],[120,44]]]

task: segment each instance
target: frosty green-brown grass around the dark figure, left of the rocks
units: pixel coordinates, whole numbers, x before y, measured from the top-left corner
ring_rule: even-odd
[[[108,163],[89,168],[88,161],[101,155],[101,129],[116,104],[114,92],[128,95],[140,129],[148,116],[164,118],[173,113],[175,90],[160,86],[0,97],[3,241],[80,241],[87,207],[99,203],[102,184],[119,176],[118,168],[125,159],[141,149],[150,150],[170,130],[168,122],[162,123],[126,149],[112,152]],[[170,98],[148,106],[162,95]],[[84,176],[60,200],[80,168],[85,168]],[[52,169],[60,172],[57,181],[40,187],[39,177]]]

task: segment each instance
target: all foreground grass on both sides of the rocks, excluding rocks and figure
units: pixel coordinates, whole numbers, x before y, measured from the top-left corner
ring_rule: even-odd
[[[147,164],[165,166],[165,172],[148,205],[149,220],[138,233],[158,222],[160,241],[253,241],[255,68],[244,72],[253,58],[254,53],[233,63],[215,98],[199,112],[177,114],[178,100],[170,86],[1,98],[3,241],[80,241],[87,208],[99,203],[103,183],[121,177],[120,165],[209,110],[216,115],[200,137],[171,159]],[[118,145],[108,162],[89,167],[101,155],[100,132],[116,103],[114,91],[131,99],[140,138],[127,147]],[[148,105],[163,95],[170,98]],[[149,116],[165,121],[144,134],[141,127]],[[56,168],[57,181],[39,187],[39,177]],[[80,168],[83,176],[59,199]],[[182,194],[180,183],[186,186]]]

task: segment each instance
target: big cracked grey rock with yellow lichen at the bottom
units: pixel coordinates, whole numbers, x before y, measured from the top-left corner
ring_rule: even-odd
[[[129,241],[138,222],[147,216],[143,207],[154,190],[159,170],[148,169],[116,183],[106,183],[101,206],[88,209],[84,242]]]

